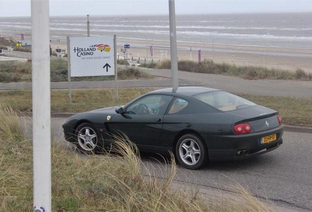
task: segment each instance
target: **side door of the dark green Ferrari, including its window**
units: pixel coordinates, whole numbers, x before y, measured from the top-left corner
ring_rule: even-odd
[[[159,112],[159,102],[166,99],[167,109],[173,97],[165,95],[145,96],[112,117],[113,133],[125,133],[137,145],[158,146],[164,112]],[[164,110],[164,111],[165,111]]]

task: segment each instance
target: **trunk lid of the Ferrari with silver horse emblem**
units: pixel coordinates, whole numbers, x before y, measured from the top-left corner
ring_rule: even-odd
[[[279,113],[264,106],[252,106],[226,113],[245,119],[254,132],[270,130],[280,126],[276,117]]]

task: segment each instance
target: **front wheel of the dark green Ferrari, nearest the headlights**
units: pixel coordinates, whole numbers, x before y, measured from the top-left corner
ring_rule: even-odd
[[[78,149],[84,153],[96,153],[99,151],[99,135],[94,125],[82,123],[75,131],[75,142]]]

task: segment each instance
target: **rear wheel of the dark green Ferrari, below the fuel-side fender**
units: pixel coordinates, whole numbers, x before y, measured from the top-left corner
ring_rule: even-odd
[[[178,140],[176,155],[181,165],[187,169],[198,169],[208,160],[206,144],[196,134],[185,134]]]

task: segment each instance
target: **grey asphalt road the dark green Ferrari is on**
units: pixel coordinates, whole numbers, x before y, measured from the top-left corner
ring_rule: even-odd
[[[66,143],[61,128],[65,120],[52,118],[51,125],[53,137]],[[214,161],[192,171],[179,166],[175,181],[209,191],[218,190],[220,185],[240,184],[253,195],[282,207],[280,211],[312,211],[312,134],[284,132],[283,138],[280,148],[256,158]],[[157,155],[141,154],[144,163],[158,167],[155,158],[162,160]]]

